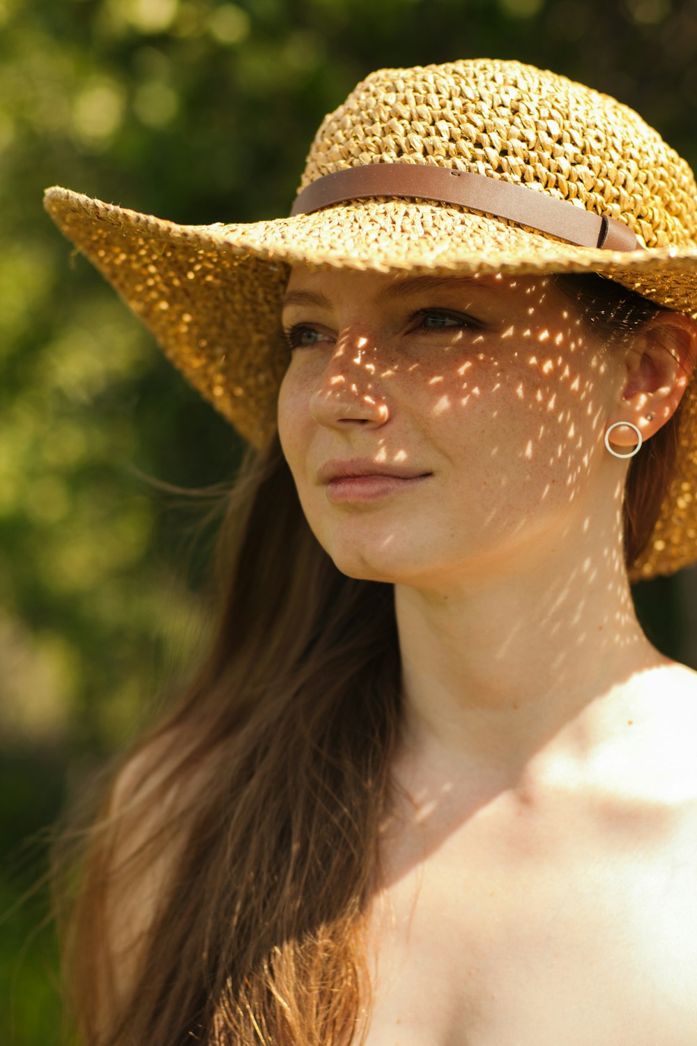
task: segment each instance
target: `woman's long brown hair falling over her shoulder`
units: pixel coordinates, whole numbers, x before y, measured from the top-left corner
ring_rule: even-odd
[[[658,308],[600,277],[556,281],[613,337]],[[630,463],[627,566],[672,476],[676,424]],[[88,1046],[344,1046],[370,996],[364,919],[394,800],[393,588],[334,567],[277,436],[247,453],[213,567],[195,677],[110,768],[89,829],[67,825],[55,845],[66,1011]],[[155,867],[116,1006],[109,946]]]

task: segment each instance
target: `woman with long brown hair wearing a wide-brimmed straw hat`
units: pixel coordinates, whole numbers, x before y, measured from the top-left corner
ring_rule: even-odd
[[[90,832],[85,1041],[694,1041],[697,682],[629,589],[697,560],[684,161],[464,61],[359,84],[288,219],[47,207],[250,441]]]

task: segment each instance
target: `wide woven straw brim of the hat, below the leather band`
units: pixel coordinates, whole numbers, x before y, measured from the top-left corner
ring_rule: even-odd
[[[294,218],[193,226],[57,186],[46,191],[44,204],[186,380],[256,447],[276,427],[278,387],[288,363],[279,305],[289,267],[299,263],[415,274],[597,272],[697,316],[694,248],[576,247],[459,207],[363,200]],[[692,383],[684,400],[681,442],[692,439],[697,425]],[[697,486],[697,461],[691,460],[683,448],[681,472],[630,581],[694,562],[695,533],[687,518],[683,525],[677,518],[681,492]],[[672,539],[665,550],[658,547],[663,533]],[[675,541],[686,544],[678,548]]]

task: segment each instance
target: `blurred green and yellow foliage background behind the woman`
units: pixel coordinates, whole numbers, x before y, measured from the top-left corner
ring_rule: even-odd
[[[45,829],[201,650],[239,444],[45,215],[65,185],[183,223],[287,213],[373,69],[515,58],[697,166],[694,0],[0,0],[0,1042],[60,1042]],[[634,587],[697,667],[696,575]],[[5,1004],[5,1000],[8,1004]]]

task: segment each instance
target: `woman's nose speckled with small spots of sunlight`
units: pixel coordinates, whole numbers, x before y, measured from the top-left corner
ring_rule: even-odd
[[[379,428],[391,416],[382,384],[374,341],[365,334],[343,336],[318,376],[310,414],[329,428],[349,424]]]

